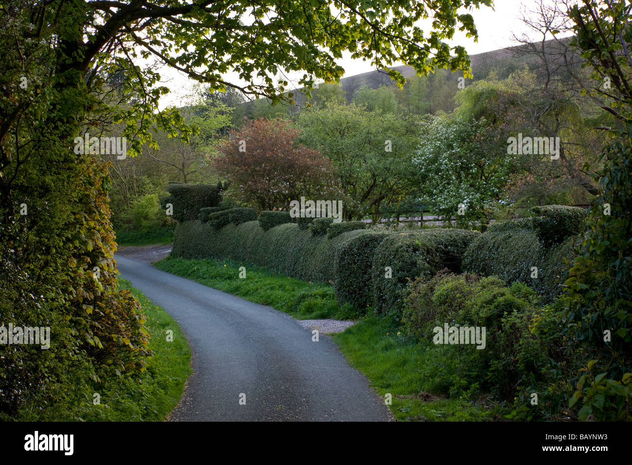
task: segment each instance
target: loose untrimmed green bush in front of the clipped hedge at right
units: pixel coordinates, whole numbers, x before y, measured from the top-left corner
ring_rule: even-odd
[[[482,388],[511,399],[525,373],[540,369],[526,360],[521,366],[517,363],[521,340],[531,337],[529,323],[538,303],[535,292],[522,283],[506,287],[495,277],[441,274],[413,283],[403,321],[408,332],[420,337],[422,344],[434,345],[437,358],[446,361],[445,368],[432,374],[439,378],[439,385],[453,393]],[[446,323],[481,328],[481,335],[485,328],[485,349],[475,344],[433,344],[434,328],[444,328]],[[545,350],[532,356],[530,362],[547,361]]]

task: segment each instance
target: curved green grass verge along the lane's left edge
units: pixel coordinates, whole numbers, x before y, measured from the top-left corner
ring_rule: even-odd
[[[87,390],[82,388],[63,402],[23,409],[18,421],[163,421],[178,404],[191,374],[191,350],[178,323],[129,281],[119,278],[119,288],[130,290],[147,317],[149,349],[154,351],[147,369],[113,374],[100,382],[89,380]],[[167,342],[167,330],[173,331],[172,342]],[[100,395],[100,404],[94,404],[94,394]]]

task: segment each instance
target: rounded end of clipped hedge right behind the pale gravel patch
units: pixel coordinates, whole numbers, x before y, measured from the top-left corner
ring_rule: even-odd
[[[373,294],[370,292],[373,254],[377,245],[389,234],[365,231],[338,247],[334,259],[338,302],[353,304],[360,309],[373,303]]]

